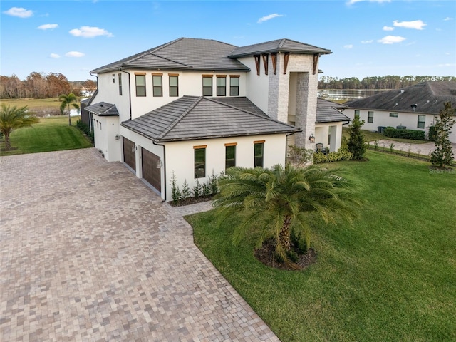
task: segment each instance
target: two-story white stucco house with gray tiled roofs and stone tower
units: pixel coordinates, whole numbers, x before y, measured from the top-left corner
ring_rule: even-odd
[[[318,59],[328,53],[289,39],[179,38],[90,71],[98,90],[81,103],[83,118],[106,160],[170,201],[172,175],[192,188],[233,165],[283,165],[291,140],[337,150],[348,118],[335,103],[317,108]]]

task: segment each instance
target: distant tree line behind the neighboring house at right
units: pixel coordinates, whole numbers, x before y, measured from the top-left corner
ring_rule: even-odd
[[[399,89],[425,81],[456,81],[455,76],[373,76],[361,81],[357,77],[321,76],[318,89]]]

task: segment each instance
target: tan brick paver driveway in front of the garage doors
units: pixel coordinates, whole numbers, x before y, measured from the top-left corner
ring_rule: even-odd
[[[2,342],[279,341],[119,162],[0,160]]]

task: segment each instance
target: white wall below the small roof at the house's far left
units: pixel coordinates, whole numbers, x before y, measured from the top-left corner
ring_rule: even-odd
[[[118,116],[93,115],[93,134],[95,148],[103,152],[108,162],[120,160],[120,139],[115,136],[119,133]]]

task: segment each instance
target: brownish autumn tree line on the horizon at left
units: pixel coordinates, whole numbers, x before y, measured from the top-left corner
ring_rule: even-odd
[[[30,73],[25,80],[16,75],[0,76],[0,98],[58,98],[61,94],[83,95],[88,90],[90,95],[97,88],[96,82],[68,81],[62,73]]]

